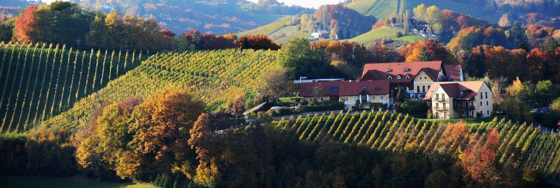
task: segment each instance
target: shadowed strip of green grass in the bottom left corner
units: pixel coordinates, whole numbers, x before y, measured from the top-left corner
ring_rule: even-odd
[[[118,184],[88,179],[85,176],[73,177],[31,177],[31,176],[0,176],[0,188],[155,188],[152,185],[143,184]]]

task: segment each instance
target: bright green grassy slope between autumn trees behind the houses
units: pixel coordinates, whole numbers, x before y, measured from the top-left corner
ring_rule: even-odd
[[[348,41],[367,43],[386,37],[390,37],[391,40],[403,40],[408,42],[414,42],[421,39],[420,37],[414,35],[407,35],[407,36],[402,36],[397,38],[395,37],[396,31],[397,30],[393,27],[384,26],[384,27],[376,28],[375,30],[372,30],[370,32],[363,33],[362,35],[351,38]]]

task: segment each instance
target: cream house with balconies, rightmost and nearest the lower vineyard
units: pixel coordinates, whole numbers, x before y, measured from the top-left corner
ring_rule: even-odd
[[[493,95],[484,81],[434,82],[423,100],[435,119],[490,117]]]

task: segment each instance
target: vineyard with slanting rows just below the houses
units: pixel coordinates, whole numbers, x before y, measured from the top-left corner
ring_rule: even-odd
[[[490,120],[490,119],[489,119]],[[301,140],[320,142],[332,139],[343,143],[365,144],[373,150],[401,152],[418,150],[426,155],[458,156],[461,150],[490,129],[500,133],[496,159],[516,168],[532,168],[549,179],[560,180],[560,141],[558,133],[543,133],[526,124],[492,119],[467,127],[464,123],[431,123],[389,112],[340,112],[315,114],[273,122],[273,126],[290,129]],[[514,160],[514,157],[519,157]],[[515,162],[521,161],[521,162]]]

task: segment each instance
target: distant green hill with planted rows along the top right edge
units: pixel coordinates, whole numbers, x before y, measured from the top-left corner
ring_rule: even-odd
[[[372,15],[375,16],[377,20],[382,20],[390,17],[393,13],[404,13],[406,10],[412,13],[412,9],[422,3],[424,3],[426,7],[435,5],[442,10],[450,9],[455,12],[464,13],[465,15],[472,15],[473,17],[489,15],[484,11],[483,7],[447,0],[360,0],[346,4],[346,7],[352,8],[362,15]]]

